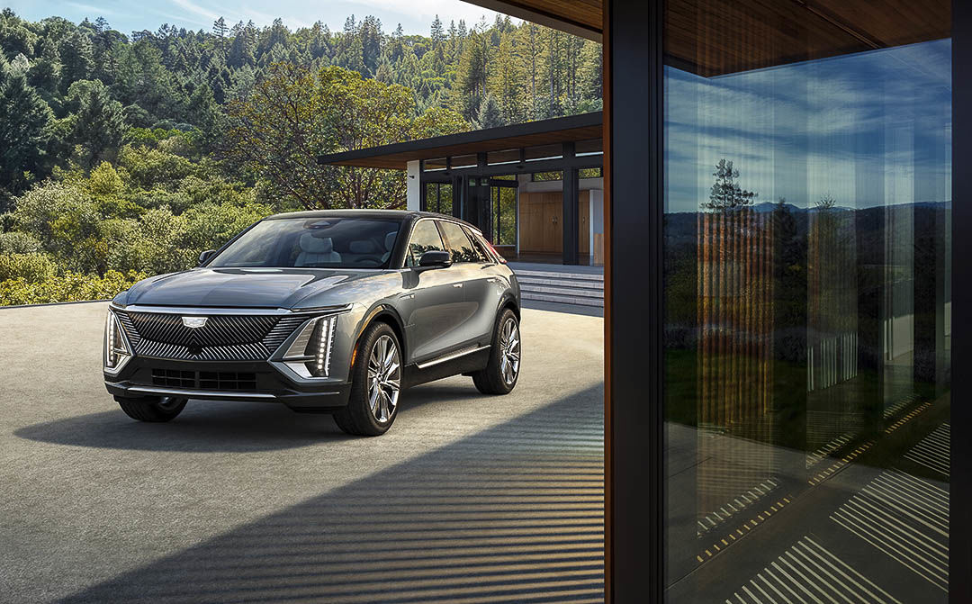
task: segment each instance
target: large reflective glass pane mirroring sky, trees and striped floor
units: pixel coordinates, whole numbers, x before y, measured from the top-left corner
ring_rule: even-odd
[[[884,4],[669,3],[670,602],[948,600],[951,24]]]

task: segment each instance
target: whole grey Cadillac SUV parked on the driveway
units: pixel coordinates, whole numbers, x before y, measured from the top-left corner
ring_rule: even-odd
[[[425,212],[261,220],[199,266],[112,301],[104,376],[121,409],[168,421],[190,399],[391,427],[407,386],[464,374],[506,394],[520,373],[520,288],[482,232]]]

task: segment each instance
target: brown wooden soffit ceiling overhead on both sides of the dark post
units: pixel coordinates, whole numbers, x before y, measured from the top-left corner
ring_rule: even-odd
[[[602,38],[602,0],[467,2]],[[666,62],[705,77],[952,35],[952,0],[667,0],[666,6]]]

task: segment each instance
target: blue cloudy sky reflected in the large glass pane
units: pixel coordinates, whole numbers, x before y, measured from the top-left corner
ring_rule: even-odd
[[[949,40],[711,79],[667,68],[668,211],[708,200],[722,158],[757,202],[951,198],[951,68]]]

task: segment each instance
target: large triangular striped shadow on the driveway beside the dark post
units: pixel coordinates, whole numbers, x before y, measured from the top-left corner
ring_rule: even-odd
[[[603,392],[577,392],[62,601],[603,601]]]

